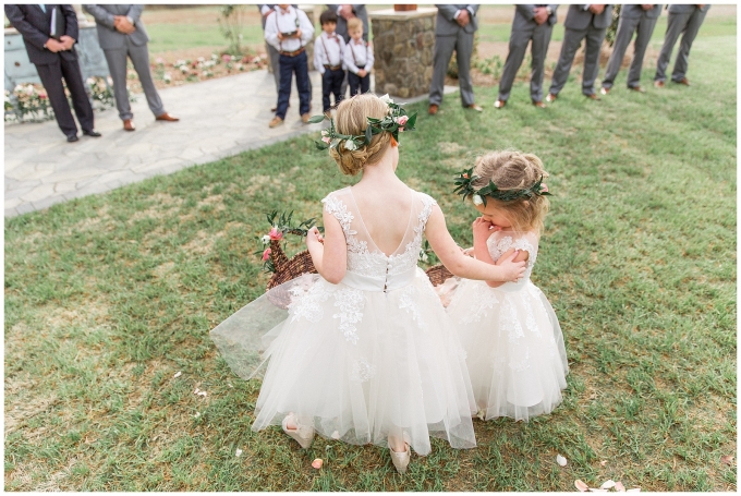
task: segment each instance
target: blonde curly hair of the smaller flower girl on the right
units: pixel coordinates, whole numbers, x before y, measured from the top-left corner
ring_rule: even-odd
[[[498,190],[524,190],[531,187],[540,178],[548,178],[543,162],[533,154],[515,150],[498,150],[488,153],[476,159],[473,173],[478,176],[472,185],[479,190],[493,181]],[[550,206],[547,196],[536,195],[532,198],[518,198],[501,202],[487,197],[486,202],[494,202],[502,210],[512,227],[518,231],[543,232],[543,220]]]

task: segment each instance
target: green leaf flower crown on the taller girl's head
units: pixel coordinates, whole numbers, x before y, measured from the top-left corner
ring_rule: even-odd
[[[344,149],[354,150],[370,143],[374,134],[391,133],[393,138],[399,142],[399,133],[402,131],[414,131],[416,123],[416,112],[408,116],[406,111],[401,108],[401,105],[394,104],[388,95],[380,97],[389,107],[388,114],[382,119],[368,119],[368,126],[365,128],[365,134],[356,136],[350,134],[340,134],[335,128],[335,119],[329,119],[329,128],[321,130],[321,141],[314,142],[318,149],[337,148],[343,143]],[[324,114],[312,117],[308,122],[318,124],[327,119]]]

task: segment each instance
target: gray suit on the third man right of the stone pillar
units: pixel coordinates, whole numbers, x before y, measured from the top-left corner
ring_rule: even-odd
[[[590,12],[588,5],[569,5],[569,12],[563,22],[566,32],[561,45],[561,55],[558,58],[548,93],[558,95],[563,88],[576,50],[582,45],[582,40],[586,38],[582,93],[594,95],[594,82],[599,73],[599,49],[611,22],[612,5],[605,5],[605,10],[599,15]]]

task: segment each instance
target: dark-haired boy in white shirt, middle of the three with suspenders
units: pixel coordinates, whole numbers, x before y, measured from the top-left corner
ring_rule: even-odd
[[[321,74],[321,104],[325,116],[330,117],[329,95],[335,95],[335,107],[340,102],[340,89],[344,80],[344,39],[335,33],[337,14],[330,10],[319,16],[323,33],[314,41],[314,68]]]

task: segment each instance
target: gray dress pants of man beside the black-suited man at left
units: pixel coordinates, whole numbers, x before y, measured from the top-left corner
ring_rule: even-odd
[[[106,60],[108,61],[108,70],[113,80],[113,95],[116,96],[116,108],[119,110],[121,120],[133,119],[131,113],[131,105],[129,104],[129,93],[126,92],[126,57],[131,58],[134,64],[134,70],[142,83],[142,89],[147,97],[147,105],[151,113],[161,116],[165,113],[165,106],[159,98],[159,93],[155,87],[155,82],[151,78],[151,71],[149,70],[149,50],[146,44],[136,46],[129,38],[126,38],[126,46],[120,49],[104,50]]]

